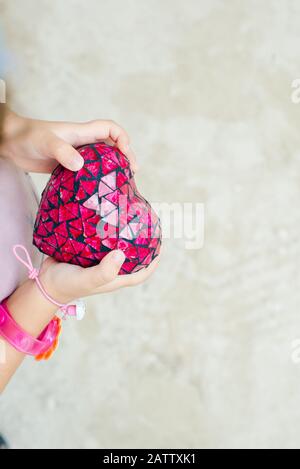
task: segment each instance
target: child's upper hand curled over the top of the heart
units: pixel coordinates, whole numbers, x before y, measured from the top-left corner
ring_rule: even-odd
[[[58,162],[78,171],[83,166],[83,158],[74,147],[98,141],[116,145],[129,159],[132,170],[137,170],[127,133],[111,120],[47,122],[7,111],[0,155],[13,160],[25,171],[51,173]]]

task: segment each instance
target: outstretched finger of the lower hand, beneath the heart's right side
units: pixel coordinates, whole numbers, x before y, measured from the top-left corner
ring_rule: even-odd
[[[120,288],[133,287],[144,283],[155,272],[159,261],[160,256],[156,257],[147,268],[144,268],[139,272],[128,275],[119,275],[106,285],[102,285],[97,288],[94,293],[110,293],[112,291],[119,290]]]

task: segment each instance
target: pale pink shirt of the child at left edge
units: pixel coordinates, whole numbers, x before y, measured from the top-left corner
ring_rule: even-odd
[[[27,277],[26,268],[12,252],[14,244],[23,244],[33,265],[40,265],[42,256],[32,245],[37,206],[30,176],[0,157],[0,301]]]

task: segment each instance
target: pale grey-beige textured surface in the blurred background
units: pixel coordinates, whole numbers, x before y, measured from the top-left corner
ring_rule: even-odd
[[[152,201],[204,202],[205,244],[89,300],[1,398],[16,447],[300,447],[299,2],[9,0],[17,110],[110,117]],[[41,188],[45,178],[35,178]]]

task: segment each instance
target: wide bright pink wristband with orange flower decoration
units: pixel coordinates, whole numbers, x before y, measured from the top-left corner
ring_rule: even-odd
[[[6,300],[0,304],[0,336],[21,353],[34,355],[36,360],[47,360],[58,345],[60,332],[61,319],[55,317],[35,339],[12,318]]]

